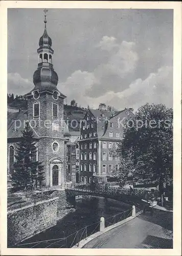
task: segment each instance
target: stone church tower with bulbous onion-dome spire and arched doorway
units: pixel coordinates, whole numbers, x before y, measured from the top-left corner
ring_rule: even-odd
[[[58,75],[53,68],[52,40],[47,32],[44,10],[44,32],[39,39],[38,67],[33,75],[34,88],[26,94],[28,120],[39,137],[38,160],[45,170],[47,186],[60,185],[65,181],[65,136],[69,131],[63,121],[64,96],[58,89]]]

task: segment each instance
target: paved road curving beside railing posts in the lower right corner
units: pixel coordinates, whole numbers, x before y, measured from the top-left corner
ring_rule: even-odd
[[[154,210],[112,229],[83,248],[172,248],[172,212]]]

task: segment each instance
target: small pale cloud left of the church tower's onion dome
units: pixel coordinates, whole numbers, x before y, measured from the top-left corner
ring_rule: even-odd
[[[8,93],[24,95],[33,89],[33,83],[18,73],[8,73]]]

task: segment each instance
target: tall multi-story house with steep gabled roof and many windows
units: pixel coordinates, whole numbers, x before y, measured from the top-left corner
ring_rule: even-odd
[[[106,183],[120,159],[113,158],[109,149],[121,141],[124,122],[134,114],[131,109],[117,113],[106,111],[101,103],[98,110],[89,109],[80,129],[80,181]]]

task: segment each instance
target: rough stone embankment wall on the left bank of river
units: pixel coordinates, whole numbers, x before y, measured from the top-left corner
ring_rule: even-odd
[[[8,212],[8,247],[18,244],[57,223],[58,198]]]

